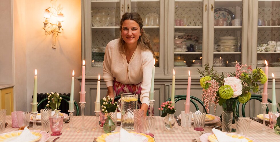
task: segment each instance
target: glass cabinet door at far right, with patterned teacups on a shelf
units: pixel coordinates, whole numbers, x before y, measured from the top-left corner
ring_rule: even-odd
[[[257,67],[267,60],[270,71],[279,72],[280,1],[259,0],[258,5]]]

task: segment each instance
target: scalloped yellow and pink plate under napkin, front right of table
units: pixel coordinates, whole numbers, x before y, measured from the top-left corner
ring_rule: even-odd
[[[239,134],[236,134],[236,133],[226,133],[228,136],[231,136],[233,138],[239,138],[239,139],[242,139],[242,138],[245,138],[248,140],[248,142],[259,142],[258,140],[252,138],[252,137],[248,137],[248,136],[245,136],[245,135],[239,135]],[[203,134],[199,137],[200,141],[201,142],[218,142],[217,141],[217,138],[215,137],[215,135],[213,133],[206,133],[206,134]]]

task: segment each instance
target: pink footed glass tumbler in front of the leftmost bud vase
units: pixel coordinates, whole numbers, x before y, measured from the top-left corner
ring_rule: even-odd
[[[64,116],[62,116],[61,118],[52,118],[52,116],[49,117],[51,124],[51,132],[53,132],[51,134],[52,136],[61,135],[63,118]]]

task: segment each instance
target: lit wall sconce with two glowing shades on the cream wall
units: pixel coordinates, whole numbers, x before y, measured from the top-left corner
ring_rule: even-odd
[[[45,35],[53,33],[51,47],[55,49],[56,37],[61,33],[60,30],[63,30],[61,22],[64,21],[64,16],[61,13],[63,8],[60,5],[56,7],[56,0],[51,0],[51,3],[52,7],[47,8],[44,13],[45,22],[43,22],[43,29],[45,30]]]

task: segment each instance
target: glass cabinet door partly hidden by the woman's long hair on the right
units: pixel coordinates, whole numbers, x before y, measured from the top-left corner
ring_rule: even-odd
[[[143,20],[143,29],[149,35],[155,53],[155,66],[159,67],[160,51],[160,0],[131,0],[129,12],[137,12]],[[127,6],[127,5],[126,5]]]

